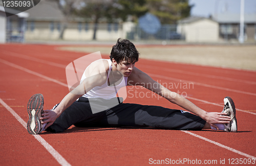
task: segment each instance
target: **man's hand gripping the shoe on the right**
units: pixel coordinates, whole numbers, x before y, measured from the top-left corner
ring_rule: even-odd
[[[224,112],[207,112],[205,121],[212,127],[219,128],[215,124],[226,124],[231,121],[230,117]]]

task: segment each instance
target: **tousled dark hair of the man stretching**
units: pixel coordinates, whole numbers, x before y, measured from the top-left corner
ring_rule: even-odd
[[[130,60],[132,60],[132,62],[137,62],[139,60],[139,55],[140,53],[131,41],[119,38],[117,39],[116,45],[113,45],[112,47],[110,59],[112,61],[112,58],[114,58],[117,63],[122,60],[125,60],[126,62],[129,62]]]

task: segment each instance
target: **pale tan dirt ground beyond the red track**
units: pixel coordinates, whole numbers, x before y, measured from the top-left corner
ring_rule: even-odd
[[[136,45],[140,58],[256,70],[256,45]],[[62,46],[60,50],[109,55],[112,46]]]

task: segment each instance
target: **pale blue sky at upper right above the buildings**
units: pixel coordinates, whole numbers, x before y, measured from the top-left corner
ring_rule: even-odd
[[[256,14],[256,0],[244,0],[245,13]],[[240,13],[240,0],[189,0],[195,6],[191,9],[193,16],[214,16],[216,13]]]

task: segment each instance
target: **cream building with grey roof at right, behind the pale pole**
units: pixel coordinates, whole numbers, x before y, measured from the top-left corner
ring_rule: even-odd
[[[256,14],[245,14],[244,40],[256,40]],[[238,40],[240,14],[218,14],[214,19],[188,17],[178,21],[177,32],[187,42],[218,42]]]

